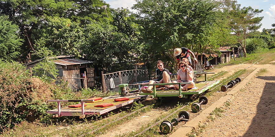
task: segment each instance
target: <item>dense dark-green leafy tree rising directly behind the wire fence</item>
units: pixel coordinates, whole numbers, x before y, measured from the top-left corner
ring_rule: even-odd
[[[134,23],[134,16],[130,16],[128,9],[116,9],[112,16],[113,20],[106,18],[85,27],[87,39],[83,53],[99,68],[108,67],[115,58],[119,62],[130,62],[139,54],[141,26]]]

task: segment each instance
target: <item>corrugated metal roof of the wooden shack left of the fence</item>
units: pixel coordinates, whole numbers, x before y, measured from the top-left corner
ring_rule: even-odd
[[[53,62],[54,62],[54,64],[66,66],[66,65],[93,63],[94,61],[86,61],[86,60],[75,59],[75,58],[67,58],[67,59],[54,60]]]

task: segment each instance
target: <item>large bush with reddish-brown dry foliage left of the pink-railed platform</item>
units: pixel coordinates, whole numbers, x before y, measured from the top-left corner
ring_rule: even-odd
[[[46,115],[46,100],[53,96],[51,85],[32,78],[17,62],[0,61],[0,68],[0,132]]]

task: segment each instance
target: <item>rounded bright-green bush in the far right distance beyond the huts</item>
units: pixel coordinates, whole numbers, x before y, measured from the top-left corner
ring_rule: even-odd
[[[250,38],[246,41],[246,52],[248,54],[267,49],[267,47],[266,42],[260,38]]]

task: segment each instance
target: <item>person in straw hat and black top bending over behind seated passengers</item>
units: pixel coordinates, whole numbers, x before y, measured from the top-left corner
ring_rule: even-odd
[[[174,49],[174,56],[176,57],[178,63],[182,60],[182,58],[187,58],[189,64],[191,65],[192,64],[191,63],[191,58],[190,58],[188,53],[190,53],[193,56],[195,63],[198,63],[194,53],[192,51],[190,51],[188,48],[181,47],[181,48],[175,48]]]

